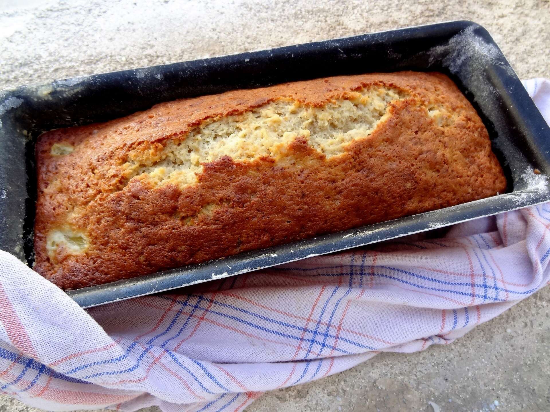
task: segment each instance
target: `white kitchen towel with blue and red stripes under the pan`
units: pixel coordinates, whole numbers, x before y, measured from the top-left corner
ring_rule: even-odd
[[[525,83],[550,118],[550,82]],[[550,203],[83,310],[0,252],[0,392],[48,410],[239,411],[448,344],[550,280]]]

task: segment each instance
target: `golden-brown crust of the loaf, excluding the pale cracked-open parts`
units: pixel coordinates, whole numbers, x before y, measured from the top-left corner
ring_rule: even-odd
[[[368,138],[326,158],[303,137],[293,162],[270,158],[204,164],[195,185],[128,180],[131,151],[154,153],[206,119],[280,98],[322,106],[354,90],[406,94]],[[438,125],[427,107],[454,114]],[[54,143],[74,151],[51,155]],[[37,143],[35,270],[64,289],[149,274],[320,233],[421,213],[503,192],[487,130],[447,76],[400,72],[338,76],[158,104],[102,124],[54,130]],[[205,213],[205,205],[214,205]],[[48,233],[86,233],[84,253],[48,254]]]

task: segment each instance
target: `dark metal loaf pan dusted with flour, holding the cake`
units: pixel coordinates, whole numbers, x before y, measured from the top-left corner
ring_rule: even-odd
[[[177,98],[316,77],[441,71],[483,119],[508,192],[476,202],[68,292],[82,307],[166,291],[452,225],[550,200],[550,129],[483,27],[409,27],[191,62],[74,77],[0,92],[0,249],[34,259],[34,140],[42,131],[105,121]],[[540,174],[533,171],[538,169]]]

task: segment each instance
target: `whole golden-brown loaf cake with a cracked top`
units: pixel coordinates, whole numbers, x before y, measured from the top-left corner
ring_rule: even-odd
[[[76,289],[494,196],[485,126],[438,73],[157,104],[37,142],[35,270]]]

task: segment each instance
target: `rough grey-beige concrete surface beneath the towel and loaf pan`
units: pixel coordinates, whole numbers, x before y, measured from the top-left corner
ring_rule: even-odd
[[[550,77],[548,0],[0,0],[0,88],[453,19],[484,25],[520,77]],[[450,346],[381,354],[248,412],[550,410],[549,299],[543,289]],[[31,409],[0,397],[12,411]]]

